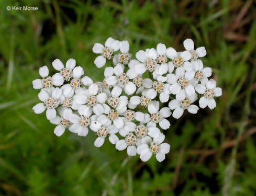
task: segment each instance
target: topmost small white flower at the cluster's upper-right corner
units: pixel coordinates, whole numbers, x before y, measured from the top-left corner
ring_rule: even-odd
[[[191,61],[196,60],[197,57],[204,57],[206,55],[205,47],[200,47],[194,50],[194,42],[192,39],[186,39],[183,42],[184,48],[191,53]]]

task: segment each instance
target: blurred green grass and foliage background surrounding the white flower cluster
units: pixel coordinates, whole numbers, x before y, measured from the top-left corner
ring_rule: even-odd
[[[36,11],[7,6],[38,7]],[[0,195],[256,195],[256,2],[226,0],[0,0]],[[171,121],[162,163],[128,157],[94,134],[79,137],[32,107],[39,67],[73,58],[101,81],[94,43],[128,40],[130,52],[191,38],[222,88],[214,110]],[[50,68],[50,74],[53,68]]]

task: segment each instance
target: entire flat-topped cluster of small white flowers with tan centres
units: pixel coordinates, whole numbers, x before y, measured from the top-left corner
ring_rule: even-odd
[[[113,62],[105,68],[103,82],[84,76],[74,59],[65,66],[56,59],[52,66],[58,73],[49,76],[48,67],[43,66],[39,69],[42,79],[32,82],[41,89],[42,101],[33,110],[46,110],[47,119],[57,125],[57,136],[66,129],[79,136],[91,130],[97,135],[96,147],[108,137],[119,151],[127,149],[129,156],[139,154],[146,162],[155,154],[162,162],[170,151],[161,132],[170,128],[168,118],[179,119],[184,110],[197,113],[199,108],[193,103],[198,97],[199,107],[213,109],[214,97],[222,94],[215,80],[208,79],[212,69],[204,68],[198,59],[206,55],[205,48],[194,50],[191,39],[184,41],[184,47],[185,51],[176,52],[159,43],[157,49],[140,50],[132,59],[128,41],[108,38],[105,45],[96,43],[93,52],[100,55],[95,65],[100,68],[107,60]]]

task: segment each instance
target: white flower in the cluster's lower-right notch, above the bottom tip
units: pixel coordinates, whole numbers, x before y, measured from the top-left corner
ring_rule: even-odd
[[[170,108],[164,107],[159,111],[159,101],[152,101],[151,104],[148,106],[148,110],[150,115],[150,121],[154,124],[159,123],[159,126],[163,129],[169,129],[171,124],[165,118],[171,116],[172,112]]]

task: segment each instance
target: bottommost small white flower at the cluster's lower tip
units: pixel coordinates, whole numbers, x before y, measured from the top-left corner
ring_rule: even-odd
[[[137,147],[137,153],[140,155],[142,162],[147,162],[153,154],[156,155],[159,162],[165,159],[165,154],[170,151],[170,145],[162,143],[164,137],[165,136],[161,133],[160,136],[155,137],[150,144],[141,144]]]

